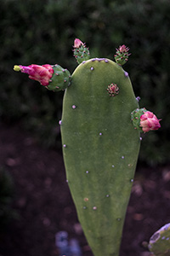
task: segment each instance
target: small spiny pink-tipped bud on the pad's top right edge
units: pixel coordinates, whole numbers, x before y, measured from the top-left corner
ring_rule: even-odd
[[[128,61],[128,56],[130,55],[128,51],[129,48],[124,44],[116,49],[115,61],[118,65],[122,66]]]

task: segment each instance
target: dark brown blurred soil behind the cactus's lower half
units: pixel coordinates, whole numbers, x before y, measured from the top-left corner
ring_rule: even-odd
[[[55,234],[76,238],[92,256],[66,183],[62,154],[42,148],[20,125],[0,124],[0,166],[14,180],[11,219],[0,230],[0,256],[58,256]],[[170,165],[138,166],[120,256],[148,256],[144,241],[170,222]],[[106,256],[106,255],[104,255]]]

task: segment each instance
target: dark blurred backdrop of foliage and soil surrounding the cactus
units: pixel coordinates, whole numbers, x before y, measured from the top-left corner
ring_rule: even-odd
[[[169,222],[170,211],[169,14],[169,0],[0,0],[0,255],[58,255],[54,234],[62,229],[77,234],[83,255],[92,255],[65,183],[59,131],[64,92],[45,90],[13,70],[58,63],[72,73],[75,38],[92,57],[112,60],[126,44],[132,55],[123,68],[140,107],[162,119],[161,129],[142,135],[122,243],[122,256],[149,255],[140,254],[139,245]],[[2,231],[11,217],[13,224]]]

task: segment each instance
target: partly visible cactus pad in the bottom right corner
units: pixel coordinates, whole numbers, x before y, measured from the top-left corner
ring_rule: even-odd
[[[148,247],[155,256],[170,255],[170,224],[165,224],[150,237]]]

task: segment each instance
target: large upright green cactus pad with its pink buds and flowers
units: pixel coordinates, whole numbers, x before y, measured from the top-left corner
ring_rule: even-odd
[[[139,155],[140,131],[150,126],[150,114],[142,123],[141,116],[147,111],[139,111],[139,100],[122,68],[129,56],[127,50],[125,45],[120,46],[116,62],[89,59],[85,44],[75,40],[74,55],[81,64],[69,77],[67,85],[71,81],[71,86],[65,90],[59,121],[67,182],[95,256],[119,254]],[[18,67],[22,66],[15,66],[14,70],[18,71]],[[46,84],[42,84],[41,74],[36,79],[49,88],[53,76],[48,76]],[[59,87],[57,80],[55,83],[52,90]],[[65,89],[62,85],[60,88]],[[140,115],[137,117],[136,113]],[[160,127],[156,122],[159,120],[151,121],[150,130]]]

